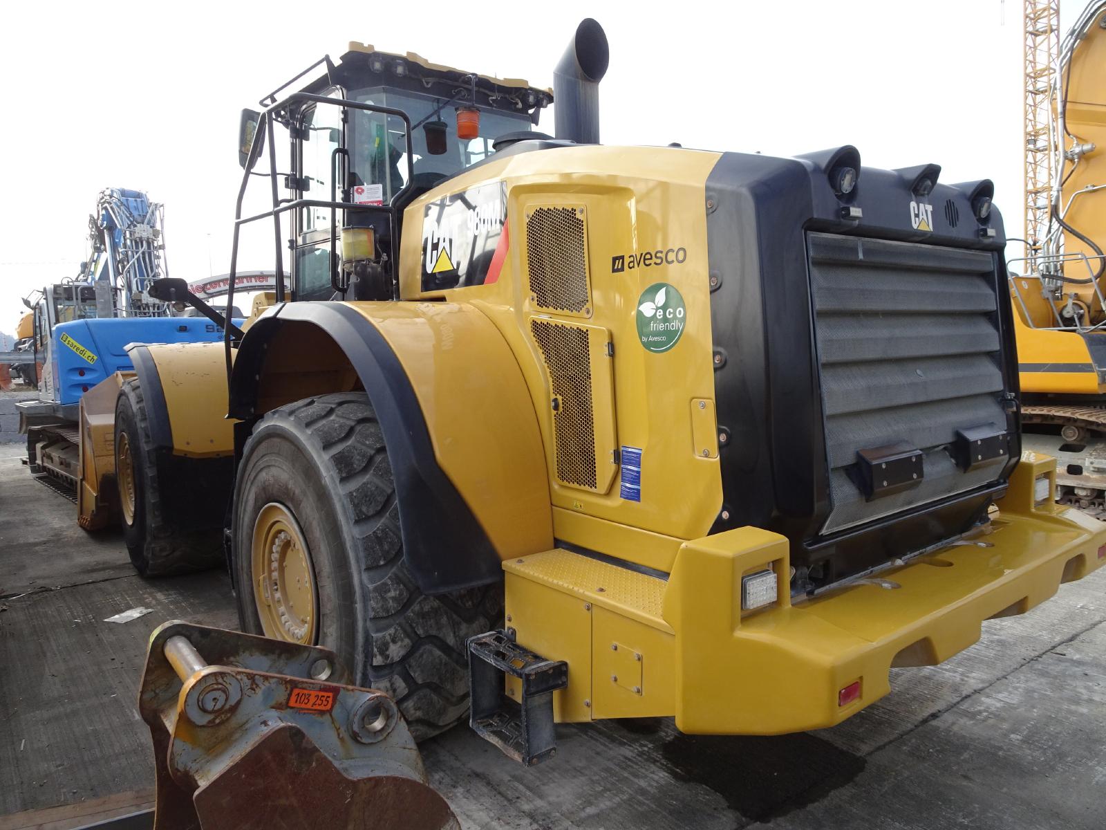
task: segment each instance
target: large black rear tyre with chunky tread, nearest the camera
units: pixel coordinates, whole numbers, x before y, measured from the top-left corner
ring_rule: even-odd
[[[317,613],[304,626],[290,609],[286,632],[274,630],[273,620],[286,618],[274,616],[264,587],[278,578],[253,572],[269,556],[262,526],[274,505],[302,533]],[[396,701],[418,740],[465,716],[466,641],[499,624],[502,587],[419,591],[404,562],[392,465],[367,395],[320,395],[268,413],[242,453],[231,527],[243,631],[285,640],[313,631],[309,639],[334,650],[356,684]]]

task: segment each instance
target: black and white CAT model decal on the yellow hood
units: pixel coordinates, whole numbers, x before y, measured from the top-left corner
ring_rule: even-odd
[[[500,242],[507,241],[502,181],[450,194],[422,217],[422,290],[482,286]],[[502,238],[502,239],[501,239]]]

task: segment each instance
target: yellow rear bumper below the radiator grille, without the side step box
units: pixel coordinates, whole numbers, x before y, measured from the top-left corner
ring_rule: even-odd
[[[677,726],[765,735],[833,726],[886,695],[893,666],[940,663],[977,642],[984,620],[1024,613],[1102,567],[1106,523],[1051,498],[1033,505],[1042,475],[1054,478],[1051,458],[1023,459],[984,535],[805,602],[781,590],[774,606],[744,618],[741,575],[765,566],[785,575],[786,546],[764,531],[737,553],[685,546],[665,596]],[[855,683],[859,695],[842,705]]]

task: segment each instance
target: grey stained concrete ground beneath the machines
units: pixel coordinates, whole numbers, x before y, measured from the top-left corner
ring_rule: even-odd
[[[61,828],[148,805],[135,696],[167,619],[233,625],[221,573],[147,581],[116,533],[0,447],[0,830]],[[154,613],[103,622],[135,605]],[[802,735],[689,737],[667,719],[562,726],[523,769],[459,727],[422,745],[466,828],[1106,827],[1106,570],[987,623],[949,662]],[[80,819],[77,817],[84,817]]]

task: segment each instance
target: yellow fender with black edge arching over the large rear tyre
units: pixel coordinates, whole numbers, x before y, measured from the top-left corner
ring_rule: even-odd
[[[552,546],[538,415],[482,312],[446,302],[276,307],[238,350],[230,414],[248,429],[278,406],[362,388],[388,446],[407,564],[424,592],[499,581],[504,559]]]

